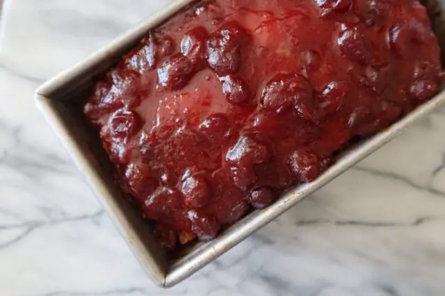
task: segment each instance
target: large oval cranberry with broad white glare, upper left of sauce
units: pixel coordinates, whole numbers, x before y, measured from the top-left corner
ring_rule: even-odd
[[[195,65],[186,56],[175,54],[158,68],[158,86],[161,90],[181,90],[195,72]]]

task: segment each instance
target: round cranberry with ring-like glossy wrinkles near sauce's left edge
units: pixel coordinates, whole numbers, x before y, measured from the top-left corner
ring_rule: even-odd
[[[133,111],[120,109],[110,116],[108,126],[114,140],[126,143],[132,135],[138,132],[140,118]]]

